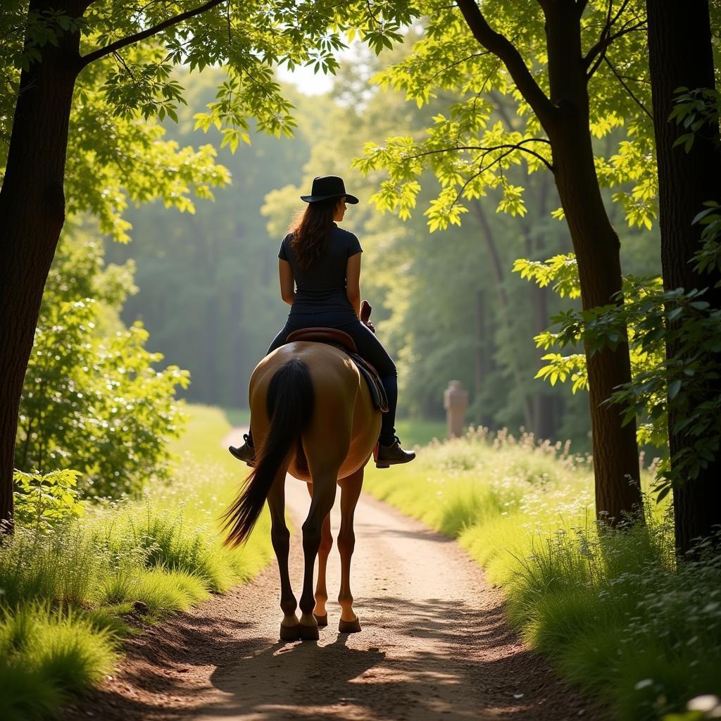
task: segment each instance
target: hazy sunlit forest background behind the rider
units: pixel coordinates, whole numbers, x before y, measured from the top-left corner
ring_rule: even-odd
[[[409,51],[401,46],[384,53],[382,62],[399,61]],[[526,186],[531,211],[525,217],[499,213],[502,193],[491,191],[471,203],[462,227],[431,234],[422,212],[436,185],[430,173],[410,219],[379,213],[369,203],[379,174],[364,177],[353,159],[369,140],[420,133],[437,108],[418,109],[404,94],[368,84],[381,61],[362,45],[345,58],[326,94],[288,88],[297,107],[293,139],[253,133],[252,143],[241,143],[234,154],[228,146],[219,151],[232,181],[214,191],[215,202],[200,200],[192,215],[169,213],[161,201],[125,213],[132,242],[105,243],[109,262],[133,260],[137,269],[137,292],[125,302],[123,320],[142,320],[152,348],[190,371],[187,399],[247,406],[247,379],[287,313],[278,291],[280,239],[312,178],[339,174],[361,198],[344,226],[358,234],[365,251],[363,295],[373,304],[379,337],[397,359],[400,414],[442,420],[443,389],[459,379],[469,391],[470,424],[523,427],[588,450],[585,393],[572,395],[535,377],[544,351],[534,336],[547,328],[549,315],[573,301],[511,273],[518,257],[547,260],[571,251],[565,224],[551,215],[560,205],[552,178],[523,177],[514,169]],[[221,71],[180,81],[188,105],[177,124],[168,119],[164,127],[167,138],[185,146],[197,143],[193,115],[213,101]],[[499,101],[512,115],[510,102]],[[447,102],[441,98],[437,105]],[[208,135],[221,145],[218,131],[211,127]],[[610,149],[617,141],[611,133],[599,143]],[[624,272],[658,275],[658,231],[629,229],[622,208],[609,207],[622,236]]]

